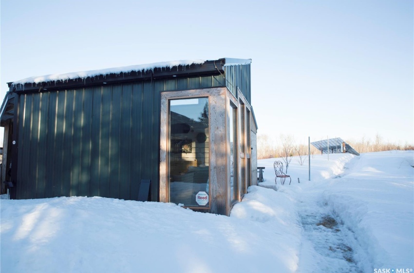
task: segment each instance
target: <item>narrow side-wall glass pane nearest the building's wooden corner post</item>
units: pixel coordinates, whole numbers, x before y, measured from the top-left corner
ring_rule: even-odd
[[[230,118],[228,130],[230,133],[230,196],[231,201],[237,199],[237,108],[230,102]]]

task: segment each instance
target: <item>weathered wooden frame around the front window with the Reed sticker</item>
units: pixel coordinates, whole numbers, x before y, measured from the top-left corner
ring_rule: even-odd
[[[191,89],[161,92],[160,120],[160,202],[169,202],[168,153],[169,153],[169,99],[208,97],[209,101],[209,208],[189,207],[194,210],[209,210],[210,213],[228,215],[226,187],[227,167],[218,162],[226,161],[226,87]],[[214,171],[214,172],[213,172]],[[227,182],[226,182],[227,183]],[[219,196],[220,199],[217,198]],[[204,208],[204,209],[203,209]]]

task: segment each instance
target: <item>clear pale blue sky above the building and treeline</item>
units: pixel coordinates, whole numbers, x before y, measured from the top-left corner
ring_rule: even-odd
[[[259,133],[414,142],[413,0],[2,0],[0,96],[31,76],[252,59]]]

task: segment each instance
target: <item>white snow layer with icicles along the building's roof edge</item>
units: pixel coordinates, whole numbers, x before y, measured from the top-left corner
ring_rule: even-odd
[[[17,84],[25,84],[25,83],[65,81],[65,80],[75,79],[75,78],[85,79],[88,77],[95,77],[98,75],[120,74],[120,73],[130,73],[130,72],[141,72],[142,73],[142,72],[147,72],[150,70],[153,71],[155,68],[172,69],[173,67],[177,67],[177,71],[178,71],[179,65],[186,66],[186,65],[191,65],[191,64],[203,64],[204,62],[205,60],[200,60],[200,59],[176,60],[176,61],[165,61],[165,62],[156,62],[156,63],[150,63],[150,64],[139,64],[139,65],[130,65],[130,66],[114,67],[114,68],[99,69],[99,70],[65,73],[65,74],[51,74],[51,75],[45,75],[45,76],[20,79],[18,81],[13,82],[13,84],[17,85]]]

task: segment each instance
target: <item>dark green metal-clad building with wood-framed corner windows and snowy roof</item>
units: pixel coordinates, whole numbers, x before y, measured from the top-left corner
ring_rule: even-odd
[[[138,200],[141,181],[150,179],[150,201],[182,203],[173,192],[191,184],[184,206],[228,215],[257,183],[250,60],[159,63],[8,85],[1,179],[13,182],[11,198]],[[203,170],[207,176],[195,178]],[[180,187],[172,189],[174,182]],[[211,196],[203,197],[207,203],[200,192]]]

